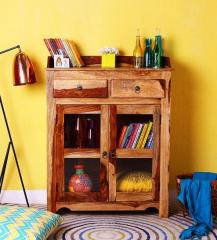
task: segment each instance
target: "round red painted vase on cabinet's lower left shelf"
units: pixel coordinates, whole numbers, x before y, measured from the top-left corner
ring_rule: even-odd
[[[70,192],[90,192],[93,183],[88,176],[84,173],[84,165],[75,165],[75,174],[70,177],[69,180],[69,191]]]

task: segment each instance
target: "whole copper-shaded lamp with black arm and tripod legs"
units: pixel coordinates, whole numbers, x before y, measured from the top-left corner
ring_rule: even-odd
[[[14,49],[19,49],[19,52],[16,54],[15,60],[14,60],[14,86],[20,86],[20,85],[24,85],[24,84],[28,84],[28,83],[35,83],[36,78],[35,78],[33,65],[32,65],[31,61],[29,60],[28,56],[21,51],[20,45],[0,51],[0,54],[9,52]],[[7,128],[8,137],[9,137],[8,147],[7,147],[7,151],[5,154],[4,163],[3,163],[1,175],[0,175],[0,194],[1,194],[1,190],[2,190],[2,185],[3,185],[5,170],[6,170],[6,166],[7,166],[7,162],[8,162],[9,152],[10,152],[10,149],[12,148],[12,152],[13,152],[13,155],[15,158],[18,174],[19,174],[20,181],[21,181],[22,188],[23,188],[23,193],[24,193],[24,196],[26,199],[26,204],[29,207],[29,202],[28,202],[28,198],[26,195],[26,190],[24,187],[22,174],[21,174],[20,167],[18,164],[15,147],[14,147],[13,139],[11,136],[11,132],[10,132],[10,128],[8,125],[8,121],[7,121],[7,117],[6,117],[6,113],[4,110],[4,105],[2,102],[1,96],[0,96],[0,105],[1,105],[1,110],[3,113],[4,121],[5,121],[5,126]]]

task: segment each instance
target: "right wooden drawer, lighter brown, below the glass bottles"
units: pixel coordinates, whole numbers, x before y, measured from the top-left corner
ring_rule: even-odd
[[[111,97],[163,98],[161,80],[118,80],[111,81]]]

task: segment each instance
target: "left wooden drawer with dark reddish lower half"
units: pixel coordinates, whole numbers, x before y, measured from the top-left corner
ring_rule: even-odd
[[[107,80],[54,80],[53,95],[57,98],[107,97]]]

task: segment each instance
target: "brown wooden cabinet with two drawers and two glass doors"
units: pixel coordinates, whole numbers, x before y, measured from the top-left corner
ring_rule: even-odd
[[[116,68],[101,68],[100,57],[83,57],[83,68],[52,68],[47,75],[48,209],[72,211],[159,210],[168,216],[170,149],[170,66],[134,69],[132,57],[118,57]],[[95,145],[77,146],[73,131],[92,119]],[[152,148],[120,148],[123,126],[153,122]],[[74,166],[83,164],[90,192],[69,191]],[[149,171],[148,192],[119,191],[120,172]]]

